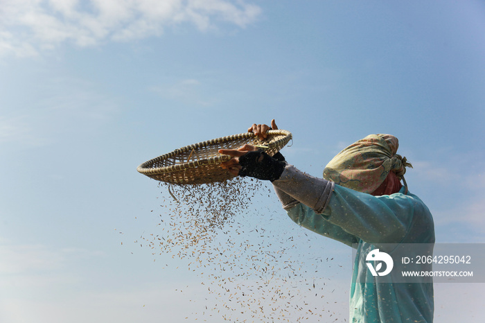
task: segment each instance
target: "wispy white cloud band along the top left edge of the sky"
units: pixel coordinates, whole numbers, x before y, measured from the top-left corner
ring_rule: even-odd
[[[37,55],[64,42],[139,40],[187,22],[201,31],[220,23],[245,28],[259,15],[258,6],[230,0],[3,0],[0,54]]]

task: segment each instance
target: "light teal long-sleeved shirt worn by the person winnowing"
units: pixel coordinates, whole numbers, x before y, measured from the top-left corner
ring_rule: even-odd
[[[364,259],[371,250],[391,243],[425,243],[432,251],[433,219],[416,195],[405,194],[404,187],[399,193],[373,196],[335,185],[323,213],[317,214],[302,203],[287,211],[298,225],[351,247],[357,246],[350,293],[351,322],[433,321],[431,280],[430,283],[394,283],[392,275],[374,277]]]

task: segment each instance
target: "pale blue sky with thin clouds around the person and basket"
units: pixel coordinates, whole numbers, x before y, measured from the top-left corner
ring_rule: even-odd
[[[0,1],[1,322],[222,322],[200,315],[202,277],[134,243],[168,216],[136,166],[273,118],[316,176],[396,135],[436,242],[484,243],[483,30],[471,0]],[[249,227],[269,208],[303,235],[274,195],[255,203]],[[325,304],[343,322],[351,250],[300,243],[344,266]],[[435,290],[439,322],[482,317],[477,284]]]

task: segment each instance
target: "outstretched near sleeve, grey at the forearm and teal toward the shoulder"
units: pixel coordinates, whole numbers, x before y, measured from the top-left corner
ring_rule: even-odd
[[[373,244],[402,242],[414,207],[423,204],[403,193],[373,196],[346,189],[291,165],[273,185],[294,222],[347,245],[360,239]]]

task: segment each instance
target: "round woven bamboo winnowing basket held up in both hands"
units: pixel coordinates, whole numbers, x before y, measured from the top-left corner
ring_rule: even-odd
[[[249,143],[262,146],[261,149],[272,156],[292,138],[292,134],[286,130],[269,130],[267,135],[263,141],[252,132],[247,132],[195,143],[145,161],[136,170],[155,180],[172,184],[223,182],[234,176],[220,167],[222,161],[228,161],[231,157],[221,155],[218,150],[237,149]]]

